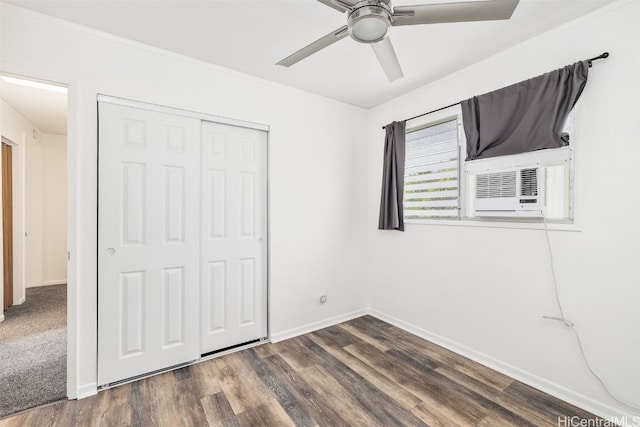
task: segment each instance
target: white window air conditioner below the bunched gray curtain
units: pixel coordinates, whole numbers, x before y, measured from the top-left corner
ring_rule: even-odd
[[[542,217],[543,175],[538,166],[475,175],[474,216]]]

